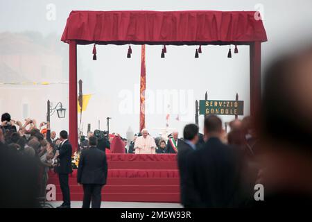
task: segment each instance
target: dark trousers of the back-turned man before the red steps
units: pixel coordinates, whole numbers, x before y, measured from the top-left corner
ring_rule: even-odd
[[[103,185],[83,185],[83,208],[90,208],[92,201],[92,208],[101,207],[101,190]]]

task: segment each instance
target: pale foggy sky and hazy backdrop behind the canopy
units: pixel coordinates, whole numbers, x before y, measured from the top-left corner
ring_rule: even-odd
[[[294,7],[295,6],[295,7]],[[44,121],[46,101],[62,101],[67,114],[54,114],[51,127],[68,129],[68,44],[60,41],[71,10],[259,10],[268,35],[262,44],[262,66],[278,53],[310,44],[312,37],[312,1],[3,1],[0,3],[0,112],[12,119],[27,116]],[[51,7],[55,17],[51,19]],[[106,117],[112,117],[110,131],[125,136],[131,127],[139,130],[139,75],[141,46],[132,45],[132,58],[126,58],[128,45],[97,46],[98,60],[92,60],[92,45],[78,46],[78,79],[83,93],[92,94],[83,112],[83,130],[106,129]],[[157,135],[166,126],[182,133],[186,123],[194,121],[195,101],[234,100],[236,93],[245,102],[244,114],[250,114],[249,48],[227,58],[229,46],[203,46],[199,59],[197,46],[146,46],[147,113],[146,128]],[[21,54],[24,55],[21,57]],[[21,59],[22,58],[22,59]],[[21,61],[22,60],[22,61]],[[40,66],[40,67],[39,67]],[[42,68],[44,67],[44,68]],[[49,85],[22,82],[47,82]],[[11,83],[15,84],[3,84]],[[178,94],[175,101],[161,102],[157,96],[166,90]],[[177,103],[176,100],[178,100]],[[29,105],[27,105],[29,104]],[[177,117],[179,117],[177,120]],[[223,116],[223,121],[234,117]],[[239,117],[243,118],[243,117]],[[202,130],[200,116],[200,130]]]

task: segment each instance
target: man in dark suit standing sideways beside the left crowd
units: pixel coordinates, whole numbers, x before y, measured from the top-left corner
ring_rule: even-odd
[[[58,149],[58,158],[60,164],[55,168],[56,173],[58,173],[58,178],[60,180],[60,188],[62,190],[63,203],[58,208],[70,208],[71,198],[69,192],[68,175],[72,173],[71,169],[71,144],[68,141],[67,131],[62,130],[60,132],[60,148]]]

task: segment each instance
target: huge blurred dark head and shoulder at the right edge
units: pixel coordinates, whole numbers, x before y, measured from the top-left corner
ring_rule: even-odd
[[[266,74],[261,129],[263,206],[312,204],[312,50],[275,62]]]

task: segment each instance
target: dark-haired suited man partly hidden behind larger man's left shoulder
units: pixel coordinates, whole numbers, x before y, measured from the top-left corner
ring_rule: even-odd
[[[196,150],[198,142],[198,126],[195,124],[188,124],[184,127],[183,138],[179,144],[179,153],[177,153],[177,164],[180,172],[180,195],[181,203],[184,207],[188,207],[187,194],[185,194],[185,185],[187,184],[187,160],[189,153]]]

